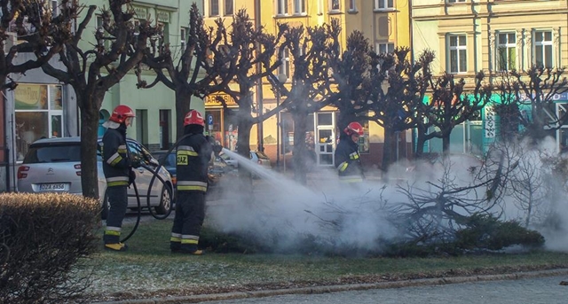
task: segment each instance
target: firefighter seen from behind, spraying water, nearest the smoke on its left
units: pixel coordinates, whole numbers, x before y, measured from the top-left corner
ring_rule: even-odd
[[[201,225],[205,217],[205,192],[208,186],[209,161],[213,148],[203,136],[205,123],[196,110],[185,114],[184,134],[177,146],[177,203],[171,229],[172,253],[201,255],[198,249]]]

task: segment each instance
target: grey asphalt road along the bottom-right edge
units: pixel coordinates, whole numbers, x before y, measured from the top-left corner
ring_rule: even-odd
[[[538,277],[509,281],[429,285],[356,292],[288,294],[264,298],[207,301],[202,303],[565,304],[568,303],[568,286],[559,285],[561,281],[568,281],[568,277]]]

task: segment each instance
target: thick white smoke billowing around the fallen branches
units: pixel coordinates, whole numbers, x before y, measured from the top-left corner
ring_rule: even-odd
[[[535,161],[528,158],[532,155],[538,155],[541,161],[543,152],[556,155],[555,147],[550,140],[539,149],[529,149],[523,144],[523,153],[516,157],[519,163]],[[382,176],[378,170],[367,172],[366,182],[359,187],[339,183],[333,168],[316,168],[317,171],[309,173],[309,182],[304,186],[292,181],[289,172],[280,174],[267,170],[236,153],[229,153],[239,161],[240,167],[260,176],[253,181],[255,199],[250,199],[251,193],[231,187],[234,184],[231,179],[236,177],[225,178],[225,199],[214,202],[223,207],[210,207],[206,221],[225,232],[264,239],[269,243],[266,245],[272,247],[293,246],[297,238],[312,236],[336,246],[380,249],[378,240],[400,237],[399,227],[390,221],[388,210],[413,203],[402,189],[437,193],[438,182],[444,178],[456,185],[468,185],[473,183],[474,176],[479,173],[477,170],[484,163],[484,160],[465,154],[450,155],[447,160],[405,161],[390,168],[389,175]],[[449,172],[447,168],[450,168]],[[536,164],[533,168],[539,168],[535,171],[538,174],[550,174],[544,164]],[[564,184],[555,191],[557,195],[552,197],[557,199],[543,200],[539,206],[541,219],[548,218],[546,214],[556,213],[555,229],[542,222],[533,222],[529,228],[537,229],[545,236],[548,248],[568,251]],[[485,195],[485,189],[467,195],[481,197]],[[494,208],[494,214],[501,215],[504,220],[523,222],[526,210],[518,207],[510,193],[505,192],[499,206]]]

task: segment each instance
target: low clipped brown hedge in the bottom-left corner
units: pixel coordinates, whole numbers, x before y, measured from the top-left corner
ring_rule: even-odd
[[[63,303],[90,284],[74,266],[94,253],[99,202],[71,194],[0,194],[0,303]]]

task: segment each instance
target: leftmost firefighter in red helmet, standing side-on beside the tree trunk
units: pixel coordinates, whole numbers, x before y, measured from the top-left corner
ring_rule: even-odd
[[[106,230],[103,237],[105,249],[126,251],[127,246],[120,242],[122,220],[128,207],[127,187],[134,183],[136,175],[132,168],[139,163],[130,159],[126,144],[126,129],[132,125],[134,112],[126,105],[118,105],[108,121],[102,141],[103,172],[106,178],[106,194],[110,210],[106,216]]]

